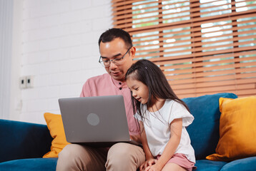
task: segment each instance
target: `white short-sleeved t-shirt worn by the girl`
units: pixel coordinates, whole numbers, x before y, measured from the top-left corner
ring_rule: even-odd
[[[145,111],[146,105],[142,105],[142,111]],[[162,155],[167,142],[171,136],[169,125],[172,120],[182,118],[182,136],[174,153],[182,153],[191,162],[195,162],[195,151],[190,143],[189,134],[185,127],[194,120],[193,115],[187,111],[184,105],[174,101],[165,100],[164,105],[158,111],[151,113],[146,110],[144,120],[136,113],[137,120],[144,122],[144,129],[147,135],[147,143],[152,155]]]

